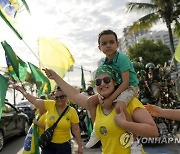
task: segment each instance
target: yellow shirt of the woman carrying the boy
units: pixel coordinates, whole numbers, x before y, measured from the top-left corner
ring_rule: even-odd
[[[134,98],[126,107],[127,112],[132,115],[133,110],[137,107],[144,108],[141,102]],[[130,154],[130,147],[124,148],[120,143],[120,137],[125,130],[121,129],[114,122],[114,116],[116,115],[115,109],[111,113],[105,115],[102,111],[100,105],[96,109],[96,119],[95,119],[95,132],[100,138],[102,143],[102,153],[103,154]]]

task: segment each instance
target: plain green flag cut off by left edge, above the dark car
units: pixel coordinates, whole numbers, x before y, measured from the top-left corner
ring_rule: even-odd
[[[8,78],[0,74],[0,119],[2,115],[2,108],[4,107],[6,92],[8,88]]]

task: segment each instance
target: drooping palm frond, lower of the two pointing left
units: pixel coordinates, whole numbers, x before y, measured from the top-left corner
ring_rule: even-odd
[[[129,28],[128,33],[131,34],[138,30],[149,30],[153,24],[156,24],[159,21],[159,15],[156,13],[151,13],[145,15],[144,17],[140,18]]]

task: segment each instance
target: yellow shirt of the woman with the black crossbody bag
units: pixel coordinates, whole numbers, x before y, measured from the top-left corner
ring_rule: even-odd
[[[46,129],[52,126],[59,118],[59,114],[56,109],[55,101],[46,100],[45,108],[46,112]],[[69,107],[68,111],[64,114],[61,120],[58,122],[57,127],[54,130],[52,141],[53,143],[64,143],[71,139],[71,124],[79,123],[79,117],[76,110],[73,107]]]

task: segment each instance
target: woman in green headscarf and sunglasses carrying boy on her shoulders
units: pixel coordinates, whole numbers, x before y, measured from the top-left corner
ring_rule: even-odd
[[[110,66],[98,68],[96,72],[96,89],[97,92],[107,98],[111,95],[116,88],[116,72]],[[81,105],[82,107],[89,109],[88,99],[89,96],[80,94],[75,88],[65,82],[54,71],[45,69],[46,75],[53,79],[64,91],[68,97]],[[98,104],[96,107],[95,118],[95,133],[99,137],[102,143],[102,152],[104,154],[130,154],[130,146],[124,144],[123,136],[126,132],[131,132],[137,136],[143,137],[157,137],[158,129],[151,115],[139,102],[137,98],[134,98],[126,110],[121,110],[120,114],[115,112],[115,103],[112,103],[111,108],[106,109]],[[126,115],[129,114],[134,122],[127,121]]]

